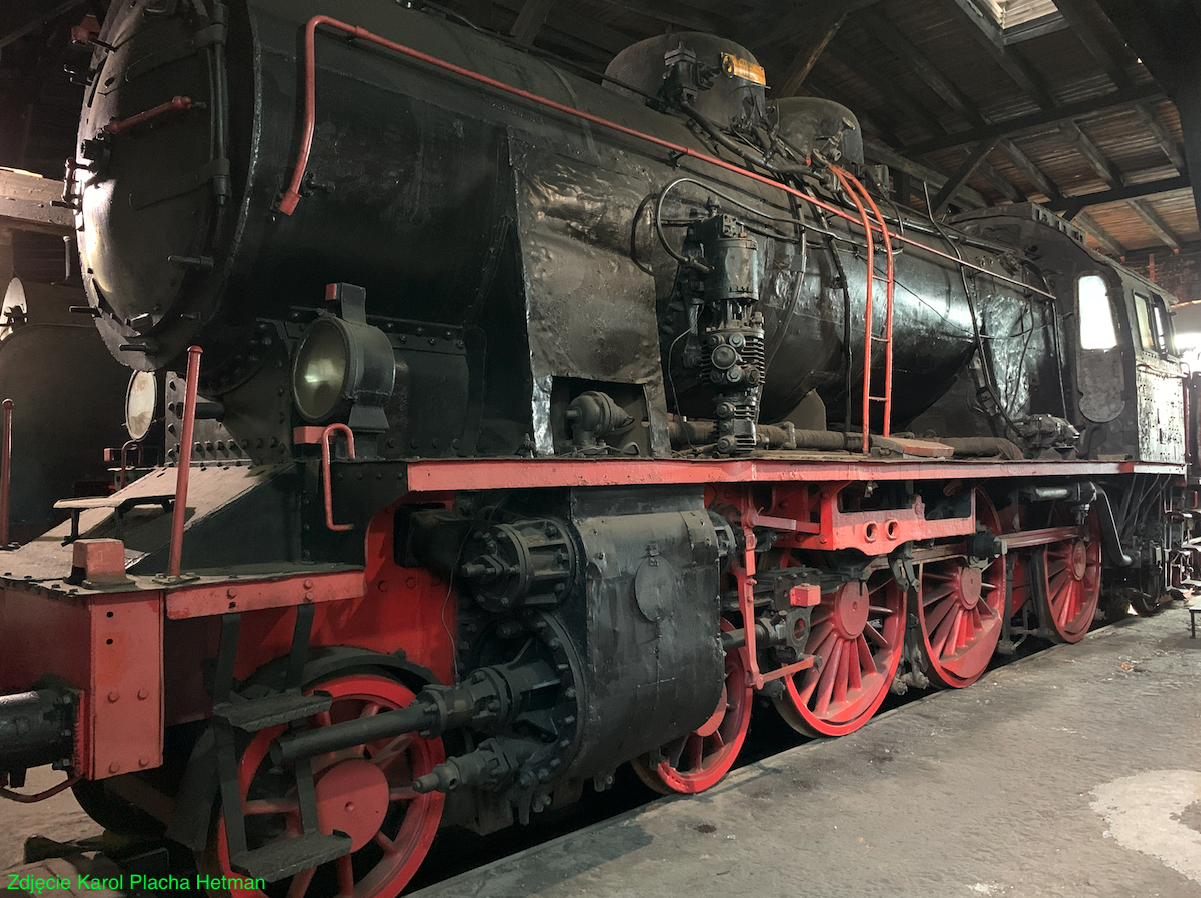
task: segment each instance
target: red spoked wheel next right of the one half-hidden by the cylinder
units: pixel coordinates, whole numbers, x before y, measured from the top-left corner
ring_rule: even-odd
[[[809,618],[806,654],[821,665],[784,681],[772,699],[788,724],[806,736],[846,736],[884,701],[904,648],[906,595],[889,571],[865,583],[821,594]]]

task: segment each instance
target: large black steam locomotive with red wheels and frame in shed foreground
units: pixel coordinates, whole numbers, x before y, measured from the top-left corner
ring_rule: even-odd
[[[132,0],[88,80],[163,463],[6,553],[0,771],[229,891],[395,896],[441,826],[712,786],[757,695],[848,734],[1191,579],[1171,298],[890,202],[730,41],[596,83],[440,10]]]

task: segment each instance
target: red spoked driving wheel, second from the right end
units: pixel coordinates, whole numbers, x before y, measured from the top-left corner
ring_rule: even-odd
[[[1000,533],[1000,517],[984,490],[975,491],[976,523]],[[962,688],[979,680],[992,658],[1005,615],[1005,559],[987,567],[963,557],[921,567],[913,610],[921,629],[922,672],[938,686]]]

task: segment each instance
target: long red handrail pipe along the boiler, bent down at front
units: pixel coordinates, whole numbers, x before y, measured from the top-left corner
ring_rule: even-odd
[[[838,209],[837,206],[824,203],[817,197],[811,197],[808,193],[803,193],[795,187],[790,187],[787,184],[782,184],[772,178],[761,175],[758,172],[752,172],[742,166],[734,164],[733,162],[727,162],[725,160],[717,158],[717,156],[710,156],[706,152],[699,152],[689,146],[682,144],[671,143],[670,140],[664,140],[662,137],[655,137],[653,134],[647,134],[644,131],[638,131],[637,128],[627,127],[626,125],[620,125],[616,121],[609,119],[603,119],[599,115],[593,115],[592,113],[584,112],[582,109],[576,109],[575,107],[567,106],[564,103],[556,102],[549,97],[544,97],[539,94],[533,94],[528,90],[522,90],[521,88],[514,88],[512,84],[506,84],[496,78],[489,78],[486,74],[480,74],[479,72],[473,72],[470,68],[464,68],[462,66],[456,66],[454,62],[447,62],[444,59],[438,59],[437,56],[431,56],[428,53],[422,53],[412,47],[406,47],[402,43],[395,43],[386,37],[372,34],[364,28],[358,25],[348,25],[345,22],[339,22],[329,16],[313,16],[309,19],[305,25],[304,36],[304,132],[300,137],[300,151],[297,154],[295,168],[292,172],[292,180],[288,184],[288,188],[283,192],[280,199],[280,211],[285,215],[292,215],[295,211],[297,204],[300,202],[300,187],[304,184],[305,169],[309,167],[309,154],[312,150],[312,136],[317,127],[317,47],[316,47],[316,35],[317,29],[322,25],[331,28],[336,31],[342,31],[348,34],[360,41],[366,41],[368,43],[374,43],[378,47],[399,53],[402,56],[408,56],[410,59],[416,59],[419,62],[425,62],[435,68],[441,68],[444,72],[450,72],[452,74],[458,74],[468,80],[473,80],[477,84],[483,84],[495,90],[500,90],[504,94],[510,94],[512,96],[521,97],[522,100],[528,100],[531,103],[537,103],[538,106],[545,106],[548,109],[555,109],[564,115],[570,115],[576,119],[582,119],[584,121],[598,125],[609,131],[616,131],[619,134],[626,134],[627,137],[633,137],[639,140],[644,140],[653,146],[659,146],[668,150],[674,156],[687,156],[688,158],[694,158],[700,162],[705,162],[717,168],[725,169],[727,172],[733,172],[734,174],[741,175],[743,178],[749,178],[753,181],[759,181],[760,184],[766,184],[776,190],[782,190],[789,196],[796,197],[801,202],[808,203],[812,206],[821,209],[823,211],[830,212],[831,215],[837,215],[839,218],[844,218],[849,222],[858,223],[855,216],[849,212]],[[888,228],[885,228],[886,231]],[[871,232],[871,228],[868,228]],[[988,275],[998,281],[1004,281],[1005,283],[1015,285],[1022,289],[1030,291],[1032,293],[1038,293],[1047,299],[1054,299],[1053,293],[1047,293],[1046,291],[1040,291],[1036,287],[1032,287],[1028,283],[1018,281],[1015,277],[1006,277],[1005,275],[997,274],[996,271],[990,271],[982,265],[976,265],[963,259],[958,259],[949,252],[943,252],[933,246],[927,246],[919,240],[906,237],[904,234],[891,234],[894,240],[898,240],[903,244],[908,244],[919,250],[924,250],[933,256],[946,259],[948,262],[954,262],[957,265],[969,268],[974,271],[980,271]]]

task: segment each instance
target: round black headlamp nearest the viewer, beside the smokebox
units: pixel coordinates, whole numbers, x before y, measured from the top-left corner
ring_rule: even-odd
[[[392,342],[366,323],[362,301],[347,298],[358,288],[336,287],[343,317],[322,315],[309,325],[292,365],[292,396],[310,424],[345,421],[353,430],[381,432],[388,429],[384,406],[396,378]]]

